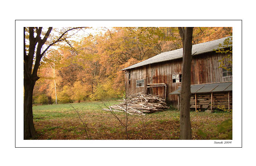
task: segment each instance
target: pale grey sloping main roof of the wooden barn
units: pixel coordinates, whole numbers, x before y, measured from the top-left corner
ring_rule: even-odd
[[[229,37],[229,40],[231,39],[231,44],[229,46],[232,46],[232,36],[228,36],[228,37]],[[224,37],[224,38],[218,39],[218,40],[213,40],[210,42],[195,44],[192,46],[192,55],[193,54],[198,55],[198,54],[203,54],[206,52],[211,52],[211,51],[213,51],[213,49],[225,48],[226,46],[224,46],[223,42],[228,37]],[[222,47],[219,47],[220,43],[223,45]],[[174,59],[182,58],[182,56],[183,56],[183,48],[176,49],[173,51],[168,51],[168,52],[162,52],[161,54],[155,55],[154,57],[148,58],[145,61],[136,63],[136,64],[126,67],[122,70],[133,69],[135,67],[145,66],[147,64],[152,64],[152,63],[174,60]]]

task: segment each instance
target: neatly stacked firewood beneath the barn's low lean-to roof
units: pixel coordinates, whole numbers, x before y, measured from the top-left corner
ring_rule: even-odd
[[[229,98],[229,99],[228,99]],[[210,109],[211,94],[197,94],[197,108]],[[228,97],[228,93],[213,93],[212,108],[218,108],[219,105],[224,105],[225,108],[232,108],[232,92]],[[195,95],[190,98],[190,108],[195,108]]]

